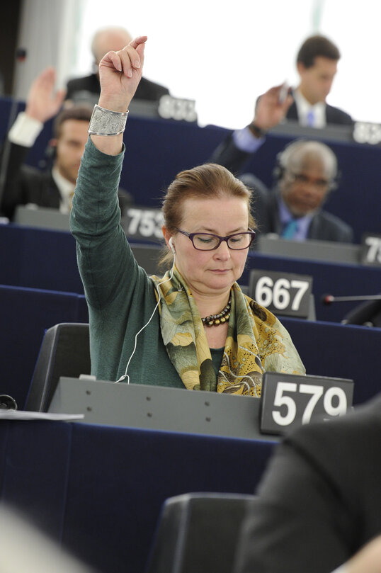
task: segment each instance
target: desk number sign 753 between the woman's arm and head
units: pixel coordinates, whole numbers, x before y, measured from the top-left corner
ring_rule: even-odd
[[[130,207],[122,217],[121,225],[128,239],[158,243],[163,239],[163,222],[161,209]]]

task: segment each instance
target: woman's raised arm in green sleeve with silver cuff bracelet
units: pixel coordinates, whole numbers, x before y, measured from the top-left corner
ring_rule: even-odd
[[[116,304],[118,296],[127,304],[138,276],[120,226],[117,192],[124,156],[123,122],[142,76],[145,40],[146,36],[136,38],[101,59],[101,96],[90,121],[91,140],[81,160],[70,216],[87,301],[98,310]]]

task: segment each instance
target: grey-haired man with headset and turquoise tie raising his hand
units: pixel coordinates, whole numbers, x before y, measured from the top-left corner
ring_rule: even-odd
[[[290,95],[280,101],[281,89],[282,86],[276,86],[258,98],[252,123],[229,135],[217,147],[211,161],[234,173],[241,170],[265,141],[266,131],[285,117],[292,103]],[[258,230],[298,241],[353,242],[351,227],[322,209],[335,186],[338,169],[334,152],[321,142],[297,140],[285,147],[277,159],[277,183],[272,191],[253,174],[240,177],[254,188]]]

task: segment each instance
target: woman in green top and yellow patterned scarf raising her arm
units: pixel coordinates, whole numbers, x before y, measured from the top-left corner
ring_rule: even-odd
[[[171,266],[163,277],[138,266],[120,227],[123,132],[146,40],[135,38],[99,64],[101,96],[74,195],[71,227],[89,305],[92,374],[259,397],[264,371],[305,368],[278,319],[237,284],[255,235],[251,191],[215,164],[179,173],[163,202]]]

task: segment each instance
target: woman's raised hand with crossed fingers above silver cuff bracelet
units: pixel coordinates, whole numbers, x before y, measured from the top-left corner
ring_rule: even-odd
[[[103,56],[99,62],[100,106],[127,111],[142,77],[146,41],[147,36],[138,36],[123,50]]]

